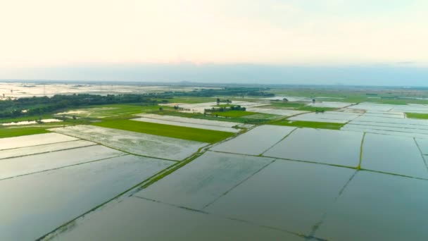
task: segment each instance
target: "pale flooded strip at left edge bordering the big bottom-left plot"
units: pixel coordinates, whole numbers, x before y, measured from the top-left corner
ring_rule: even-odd
[[[0,180],[123,155],[100,145],[0,160]]]

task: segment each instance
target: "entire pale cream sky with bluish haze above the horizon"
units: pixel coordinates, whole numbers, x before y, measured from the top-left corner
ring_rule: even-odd
[[[0,0],[0,79],[428,85],[426,0]]]

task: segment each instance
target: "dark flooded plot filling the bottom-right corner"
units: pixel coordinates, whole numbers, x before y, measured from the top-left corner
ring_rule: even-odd
[[[315,236],[326,240],[426,240],[428,181],[360,171]]]

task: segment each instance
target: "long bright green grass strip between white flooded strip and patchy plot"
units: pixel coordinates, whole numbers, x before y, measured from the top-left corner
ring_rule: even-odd
[[[234,133],[231,132],[203,130],[197,128],[187,128],[175,125],[163,125],[130,120],[103,121],[99,123],[92,123],[92,125],[207,143],[220,142],[221,140],[225,140],[226,138],[234,135]]]

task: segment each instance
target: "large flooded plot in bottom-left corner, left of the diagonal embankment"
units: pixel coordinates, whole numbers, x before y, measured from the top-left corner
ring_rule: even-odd
[[[0,240],[36,240],[172,163],[127,155],[1,180]]]

